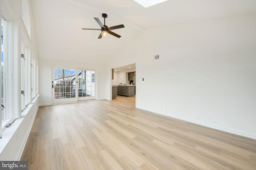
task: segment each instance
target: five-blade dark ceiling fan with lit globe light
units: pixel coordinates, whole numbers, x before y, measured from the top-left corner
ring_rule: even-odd
[[[107,25],[105,25],[105,18],[107,18],[108,15],[107,14],[102,14],[102,17],[104,18],[104,25],[101,23],[101,21],[98,18],[94,17],[96,22],[98,22],[98,24],[100,25],[101,29],[94,29],[94,28],[82,28],[82,29],[101,30],[101,33],[100,33],[98,39],[100,39],[101,37],[106,37],[108,35],[108,33],[120,38],[121,37],[120,35],[112,32],[110,30],[118,29],[118,28],[124,28],[124,25],[122,24],[122,25],[116,25],[116,26],[113,26],[113,27],[108,27]]]

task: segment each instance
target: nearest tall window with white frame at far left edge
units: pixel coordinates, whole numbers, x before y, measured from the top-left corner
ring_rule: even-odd
[[[14,93],[18,84],[18,75],[13,73],[17,71],[17,45],[18,36],[16,36],[18,25],[14,21],[14,13],[8,1],[1,1],[1,129],[0,133],[6,129],[6,124],[18,117],[17,107],[18,98]],[[14,114],[16,113],[16,114]]]

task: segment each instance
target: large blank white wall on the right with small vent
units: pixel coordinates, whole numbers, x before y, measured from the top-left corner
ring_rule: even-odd
[[[111,62],[136,63],[136,107],[256,139],[256,14],[148,29]]]

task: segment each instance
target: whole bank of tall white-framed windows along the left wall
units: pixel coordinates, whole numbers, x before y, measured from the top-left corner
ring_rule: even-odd
[[[1,1],[1,7],[0,96],[4,107],[1,108],[0,137],[2,132],[8,129],[6,124],[26,116],[27,112],[22,115],[22,110],[26,109],[26,105],[38,94],[38,61],[36,56],[31,55],[27,0],[22,0],[21,8],[17,8],[22,9],[19,16],[13,11],[8,0]],[[9,133],[8,130],[5,132]]]

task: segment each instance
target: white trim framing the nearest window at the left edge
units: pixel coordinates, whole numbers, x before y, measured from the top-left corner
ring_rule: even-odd
[[[1,1],[1,15],[6,20],[6,103],[5,108],[8,111],[9,121],[5,124],[13,121],[19,117],[19,109],[13,106],[19,106],[19,99],[17,98],[19,86],[19,60],[18,60],[18,22],[17,18],[12,10],[10,2],[8,0]],[[4,125],[1,125],[2,132],[6,129]]]

